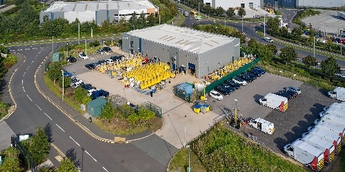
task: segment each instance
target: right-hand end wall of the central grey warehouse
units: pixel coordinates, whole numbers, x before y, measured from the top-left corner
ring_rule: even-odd
[[[239,58],[239,39],[199,55],[199,75],[206,76]]]

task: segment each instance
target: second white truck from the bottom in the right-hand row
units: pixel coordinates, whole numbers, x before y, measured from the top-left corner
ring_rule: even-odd
[[[322,140],[317,136],[313,136],[313,134],[307,134],[304,138],[299,138],[297,140],[302,140],[311,146],[319,149],[320,151],[324,152],[324,161],[329,163],[334,160],[335,151],[334,145],[331,142],[327,142],[326,140]]]

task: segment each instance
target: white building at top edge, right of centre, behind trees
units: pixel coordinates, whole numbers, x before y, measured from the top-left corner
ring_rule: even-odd
[[[224,10],[228,8],[262,8],[264,0],[201,0],[205,5],[213,8],[222,7]]]

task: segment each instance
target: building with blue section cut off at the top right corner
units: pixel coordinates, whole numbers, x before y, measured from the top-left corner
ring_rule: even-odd
[[[332,8],[345,5],[345,0],[264,0],[264,3],[275,6],[275,1],[279,7],[284,8]]]

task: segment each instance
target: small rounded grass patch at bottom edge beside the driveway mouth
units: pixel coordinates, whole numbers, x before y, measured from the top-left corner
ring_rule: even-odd
[[[169,171],[187,171],[188,166],[188,148],[181,148],[172,157],[168,166]],[[206,172],[197,155],[190,150],[190,171]]]

